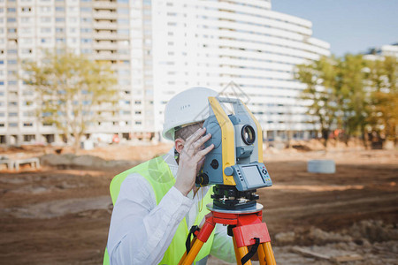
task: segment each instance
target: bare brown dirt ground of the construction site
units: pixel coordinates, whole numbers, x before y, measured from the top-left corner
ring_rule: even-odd
[[[119,145],[80,155],[139,163],[169,148]],[[14,148],[0,155],[54,151]],[[333,159],[336,173],[307,172],[310,159]],[[258,202],[278,264],[398,264],[398,151],[270,148],[264,163],[274,185],[258,191]],[[102,264],[109,184],[125,168],[1,170],[0,264]],[[225,264],[215,258],[209,263]]]

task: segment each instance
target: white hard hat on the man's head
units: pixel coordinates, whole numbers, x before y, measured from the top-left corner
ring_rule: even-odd
[[[177,127],[205,120],[210,116],[209,96],[218,93],[206,87],[191,87],[174,95],[165,106],[163,137],[174,140]]]

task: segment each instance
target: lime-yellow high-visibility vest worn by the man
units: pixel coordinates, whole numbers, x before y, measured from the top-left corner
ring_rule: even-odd
[[[162,156],[158,156],[149,160],[146,163],[139,164],[130,170],[126,170],[111,181],[111,198],[113,205],[115,205],[116,200],[118,199],[120,186],[126,177],[132,173],[138,173],[143,178],[147,179],[149,184],[152,186],[153,191],[155,193],[155,197],[157,200],[157,204],[162,200],[172,186],[175,183],[175,178],[172,175],[172,171],[170,170],[167,163]],[[200,191],[198,191],[200,193]],[[204,196],[202,203],[202,210],[200,210],[196,216],[194,225],[199,225],[203,220],[203,217],[210,213],[210,211],[206,208],[206,204],[211,202],[210,191]],[[165,255],[160,261],[159,264],[178,264],[180,258],[186,251],[186,240],[188,237],[189,229],[187,225],[187,221],[184,219],[180,222],[177,231],[172,238],[172,243],[165,251]],[[200,261],[204,257],[210,254],[211,245],[214,239],[214,231],[211,233],[210,238],[207,240],[201,251],[196,255],[195,261]],[[105,249],[105,254],[103,256],[103,265],[110,264],[108,249]]]

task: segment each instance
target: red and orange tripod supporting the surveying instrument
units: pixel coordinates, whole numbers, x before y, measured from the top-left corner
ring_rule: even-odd
[[[257,203],[256,208],[228,210],[214,208],[210,203],[207,208],[210,213],[205,217],[202,229],[191,228],[190,232],[195,238],[192,243],[187,242],[187,251],[181,257],[179,265],[192,264],[203,244],[209,239],[216,223],[228,225],[228,235],[233,237],[235,257],[239,265],[251,264],[250,258],[256,252],[260,264],[276,265],[267,225],[261,222],[263,217],[261,204]],[[252,246],[250,251],[248,246]]]

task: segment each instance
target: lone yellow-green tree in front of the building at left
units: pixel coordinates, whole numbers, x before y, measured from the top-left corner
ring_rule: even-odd
[[[88,125],[103,109],[117,102],[115,78],[109,64],[98,63],[70,51],[46,53],[39,62],[27,62],[23,80],[34,87],[37,115],[46,124],[55,124],[66,141],[74,138],[73,148]]]

